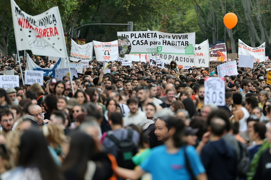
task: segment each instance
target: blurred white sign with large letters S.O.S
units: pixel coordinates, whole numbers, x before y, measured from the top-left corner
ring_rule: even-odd
[[[215,104],[217,106],[225,105],[224,78],[209,77],[204,79],[204,104]]]

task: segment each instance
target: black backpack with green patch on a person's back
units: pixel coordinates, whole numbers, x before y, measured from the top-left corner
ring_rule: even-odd
[[[122,132],[123,137],[124,131]],[[117,146],[117,164],[120,167],[126,169],[134,169],[132,157],[138,152],[136,144],[133,142],[133,130],[128,129],[128,137],[125,140],[117,139],[113,134],[107,134],[106,136]],[[123,138],[122,138],[123,139]]]

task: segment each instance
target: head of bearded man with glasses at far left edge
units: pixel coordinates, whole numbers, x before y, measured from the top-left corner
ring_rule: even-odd
[[[0,124],[2,127],[1,133],[6,134],[7,132],[12,130],[14,122],[14,116],[12,111],[9,111],[9,109],[3,109],[0,112]]]

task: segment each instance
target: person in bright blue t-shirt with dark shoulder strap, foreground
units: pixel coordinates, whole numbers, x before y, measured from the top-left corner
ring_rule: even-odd
[[[170,124],[167,126],[163,122],[158,118],[155,130],[160,130],[159,140],[162,140],[163,133],[169,135],[169,139],[164,141],[164,145],[153,148],[138,169],[129,170],[117,167],[115,173],[125,179],[138,179],[144,172],[149,172],[152,174],[152,179],[156,180],[192,178],[206,180],[205,169],[195,148],[186,146],[182,142],[184,122],[176,117],[171,117]],[[186,163],[185,153],[188,163]]]

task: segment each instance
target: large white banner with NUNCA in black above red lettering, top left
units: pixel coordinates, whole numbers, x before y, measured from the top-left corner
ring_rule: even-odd
[[[58,7],[31,16],[11,0],[17,50],[31,50],[42,56],[67,57],[66,41]]]

